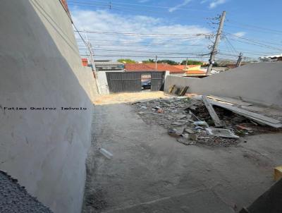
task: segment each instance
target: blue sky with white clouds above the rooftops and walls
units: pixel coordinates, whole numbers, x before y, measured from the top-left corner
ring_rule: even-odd
[[[282,53],[282,1],[278,0],[73,0],[68,5],[78,29],[88,31],[82,35],[90,39],[97,59],[132,56],[141,61],[158,55],[175,61],[185,57],[207,61],[202,54],[209,53],[212,42],[205,35],[216,31],[217,20],[212,18],[222,11],[226,11],[226,37],[218,59],[235,60],[240,51],[252,59]],[[82,42],[78,44],[86,54]]]

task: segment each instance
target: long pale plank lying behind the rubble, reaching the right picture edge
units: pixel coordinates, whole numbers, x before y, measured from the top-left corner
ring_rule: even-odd
[[[269,126],[271,126],[270,124],[277,124],[277,125],[274,125],[274,127],[281,126],[281,121],[278,121],[274,118],[262,116],[261,114],[256,114],[252,111],[247,111],[245,109],[239,109],[238,107],[233,107],[233,106],[230,106],[228,104],[222,104],[222,103],[216,102],[212,99],[209,100],[209,102],[213,105],[223,107],[225,109],[229,109],[229,110],[235,112],[236,114],[240,114],[241,116],[245,116],[245,117],[250,118],[254,121],[259,121],[259,122],[265,123],[266,125],[269,125]]]

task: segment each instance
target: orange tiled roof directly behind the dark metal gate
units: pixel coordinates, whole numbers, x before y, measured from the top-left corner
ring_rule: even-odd
[[[156,63],[125,63],[125,71],[156,71]],[[167,63],[157,63],[157,71],[169,71],[170,73],[185,73]]]

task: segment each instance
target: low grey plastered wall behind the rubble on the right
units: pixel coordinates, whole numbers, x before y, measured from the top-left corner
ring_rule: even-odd
[[[282,63],[250,63],[207,78],[166,78],[171,85],[189,86],[189,93],[240,97],[247,102],[282,107]]]

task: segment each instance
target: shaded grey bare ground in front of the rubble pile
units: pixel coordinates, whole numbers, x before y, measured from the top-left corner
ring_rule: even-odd
[[[235,147],[186,146],[133,106],[110,103],[94,108],[83,212],[238,212],[274,183],[281,133]]]

